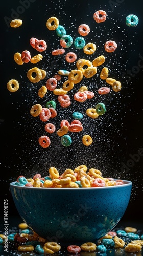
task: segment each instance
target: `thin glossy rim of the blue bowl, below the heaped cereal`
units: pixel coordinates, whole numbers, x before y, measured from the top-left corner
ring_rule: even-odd
[[[114,179],[114,180],[118,180],[118,179]],[[27,186],[17,186],[15,185],[15,183],[17,181],[13,181],[10,183],[10,187],[14,187],[14,188],[18,188],[18,189],[37,189],[37,190],[97,190],[97,189],[116,189],[116,188],[122,188],[122,187],[127,187],[127,186],[132,186],[132,181],[129,180],[122,180],[125,184],[123,185],[116,185],[116,186],[105,186],[105,187],[27,187]]]

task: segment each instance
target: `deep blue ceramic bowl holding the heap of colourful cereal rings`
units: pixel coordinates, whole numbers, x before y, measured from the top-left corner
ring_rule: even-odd
[[[10,184],[19,215],[39,236],[61,245],[95,242],[125,213],[131,181],[99,188],[37,188]]]

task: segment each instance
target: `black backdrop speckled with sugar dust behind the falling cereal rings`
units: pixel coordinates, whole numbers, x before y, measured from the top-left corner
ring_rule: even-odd
[[[25,7],[20,9],[23,1],[8,1],[1,3],[1,81],[0,81],[0,129],[1,129],[1,206],[4,199],[8,199],[9,215],[18,215],[10,194],[9,184],[19,175],[31,177],[36,173],[46,175],[49,167],[55,166],[59,172],[66,168],[74,169],[85,164],[88,168],[97,168],[103,172],[104,177],[114,177],[131,180],[133,189],[131,200],[123,216],[123,220],[142,221],[142,163],[143,156],[139,156],[143,148],[142,140],[142,7],[139,0],[136,2],[124,1],[38,1],[25,2]],[[93,13],[104,10],[107,20],[97,24]],[[11,28],[9,20],[20,18],[23,25]],[[21,12],[21,14],[19,14]],[[17,13],[17,14],[16,14]],[[126,25],[126,16],[135,14],[139,18],[136,27]],[[44,85],[47,78],[57,74],[59,69],[75,69],[76,64],[68,65],[64,56],[52,56],[51,52],[60,47],[59,37],[55,31],[49,31],[46,20],[51,16],[59,19],[59,24],[64,26],[67,34],[73,39],[80,36],[78,26],[85,23],[90,27],[90,33],[85,37],[87,42],[94,42],[97,50],[93,55],[83,54],[73,46],[65,49],[66,52],[74,51],[78,58],[93,60],[99,55],[106,57],[105,65],[109,69],[109,77],[121,81],[122,90],[118,93],[109,93],[108,96],[98,94],[98,89],[107,86],[99,77],[102,66],[98,68],[97,75],[91,79],[83,79],[69,92],[72,104],[67,109],[62,109],[57,101],[57,96],[48,92],[45,98],[40,99],[38,89]],[[29,50],[34,56],[36,52],[30,44],[31,37],[43,39],[47,42],[47,50],[43,52],[43,60],[35,66],[47,71],[47,77],[39,83],[32,84],[26,73],[34,67],[31,63],[17,65],[13,60],[15,52]],[[117,49],[114,53],[107,53],[104,44],[107,40],[114,40]],[[141,56],[142,59],[139,57]],[[139,60],[141,59],[141,62]],[[104,67],[104,66],[103,66]],[[128,73],[128,74],[127,74]],[[7,82],[10,79],[19,81],[19,90],[10,93]],[[58,87],[62,87],[62,83]],[[94,91],[95,97],[84,104],[74,102],[72,97],[80,86],[86,85],[89,91]],[[56,130],[60,128],[60,121],[73,120],[72,113],[83,113],[83,131],[70,134],[73,143],[65,148],[60,143],[60,138],[55,134],[50,135],[51,145],[43,149],[38,144],[38,138],[46,134],[45,123],[33,118],[29,111],[31,106],[40,103],[45,106],[49,100],[56,100],[58,115],[52,122]],[[87,108],[94,108],[104,102],[106,113],[96,120],[86,116]],[[84,134],[90,134],[93,143],[89,147],[82,144]],[[123,167],[124,166],[124,167]],[[3,207],[1,209],[3,216]]]

